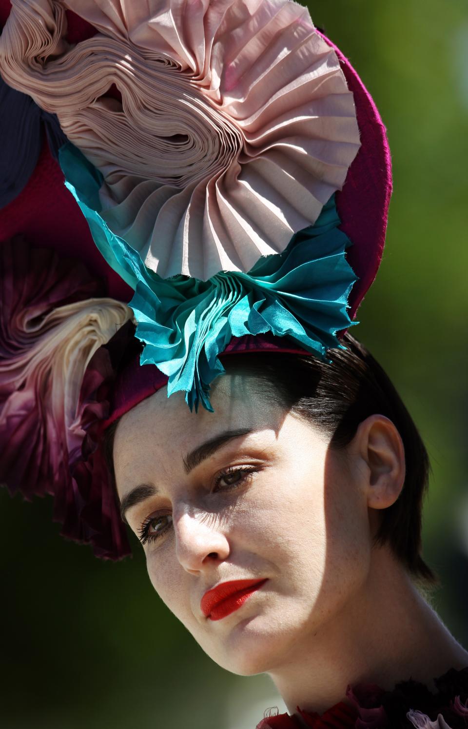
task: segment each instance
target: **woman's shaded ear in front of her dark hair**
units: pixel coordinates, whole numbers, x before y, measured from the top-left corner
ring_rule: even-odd
[[[368,507],[386,509],[396,502],[405,482],[405,448],[389,418],[371,415],[360,423],[353,439],[354,453],[364,461]]]

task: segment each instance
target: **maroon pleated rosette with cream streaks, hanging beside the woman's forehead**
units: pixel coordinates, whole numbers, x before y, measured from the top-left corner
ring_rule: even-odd
[[[103,474],[87,488],[71,473],[85,434],[79,393],[92,354],[129,317],[82,262],[23,238],[1,244],[0,483],[25,499],[52,494],[62,534],[92,542],[100,556],[127,548]]]

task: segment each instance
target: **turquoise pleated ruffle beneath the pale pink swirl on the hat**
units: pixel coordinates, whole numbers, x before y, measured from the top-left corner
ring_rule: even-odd
[[[334,195],[315,225],[293,235],[281,254],[258,260],[249,273],[221,271],[209,281],[163,279],[100,217],[100,173],[71,143],[60,149],[59,159],[98,249],[135,289],[130,307],[136,336],[145,343],[140,362],[156,364],[169,377],[168,396],[185,391],[191,409],[202,402],[212,410],[210,383],[224,371],[218,355],[233,336],[288,336],[321,357],[330,347],[344,348],[336,334],[357,324],[347,313],[357,276],[346,261],[351,241],[338,229]]]

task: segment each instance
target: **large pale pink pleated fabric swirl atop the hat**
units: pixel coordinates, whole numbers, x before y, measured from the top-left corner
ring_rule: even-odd
[[[67,8],[98,35],[68,44]],[[281,252],[360,146],[338,58],[288,0],[12,0],[0,71],[57,114],[103,174],[103,219],[163,277]]]

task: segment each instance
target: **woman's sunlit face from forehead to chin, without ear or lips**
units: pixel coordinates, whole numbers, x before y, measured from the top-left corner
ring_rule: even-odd
[[[156,592],[203,650],[237,674],[273,671],[365,582],[362,464],[253,378],[218,378],[211,401],[214,413],[191,413],[164,388],[124,415],[116,486]],[[266,582],[206,617],[204,593],[231,580]]]

